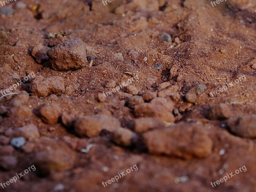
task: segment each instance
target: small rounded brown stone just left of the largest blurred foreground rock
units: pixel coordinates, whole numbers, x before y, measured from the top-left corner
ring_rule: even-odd
[[[129,147],[135,144],[138,141],[138,136],[135,132],[132,132],[129,129],[117,128],[113,132],[113,140],[121,146]]]

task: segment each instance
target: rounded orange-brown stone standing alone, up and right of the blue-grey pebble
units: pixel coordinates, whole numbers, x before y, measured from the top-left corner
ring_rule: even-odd
[[[40,118],[46,124],[56,124],[60,117],[61,109],[58,104],[51,103],[50,105],[45,105],[40,109]]]

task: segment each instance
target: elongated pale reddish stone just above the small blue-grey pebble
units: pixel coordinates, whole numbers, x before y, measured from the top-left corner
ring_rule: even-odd
[[[24,137],[27,140],[39,138],[39,132],[34,124],[28,124],[23,127],[9,129],[5,132],[8,137]]]

